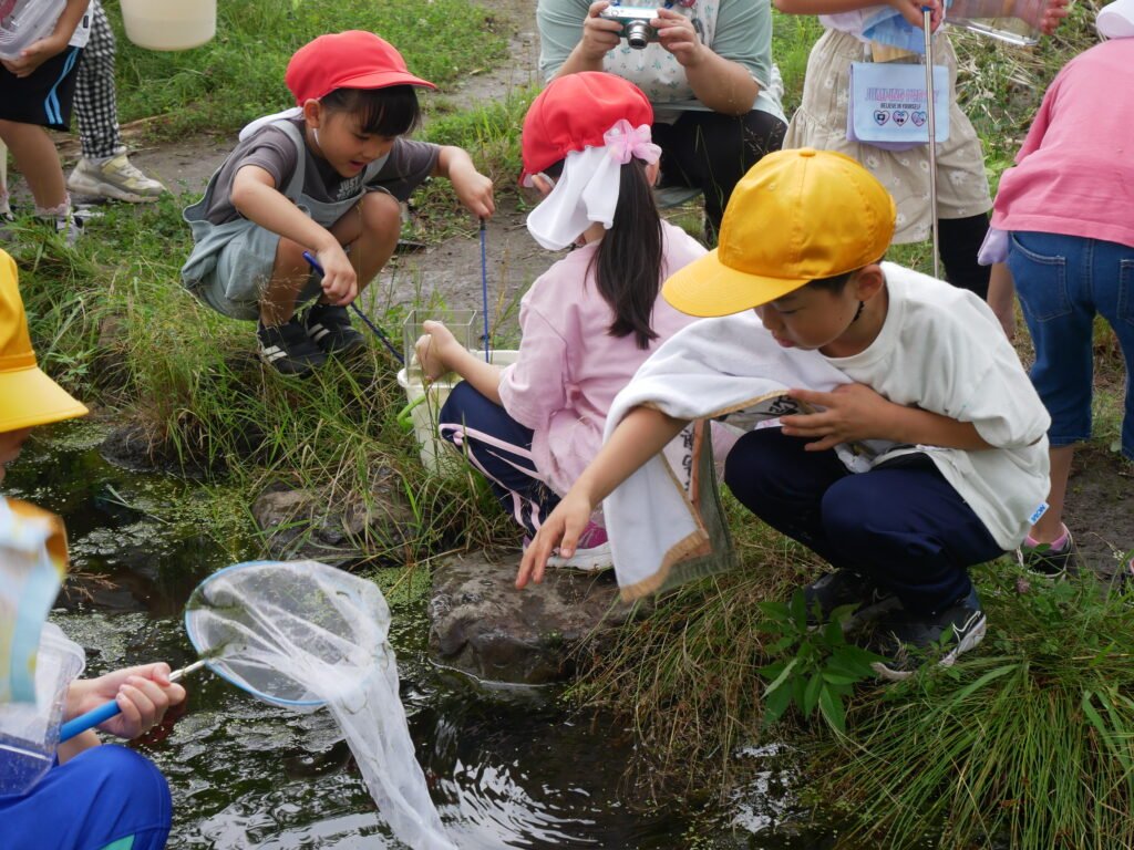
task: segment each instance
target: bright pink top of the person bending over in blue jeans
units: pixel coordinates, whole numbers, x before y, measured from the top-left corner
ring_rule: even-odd
[[[992,227],[1134,246],[1134,39],[1059,71],[1000,178]]]

